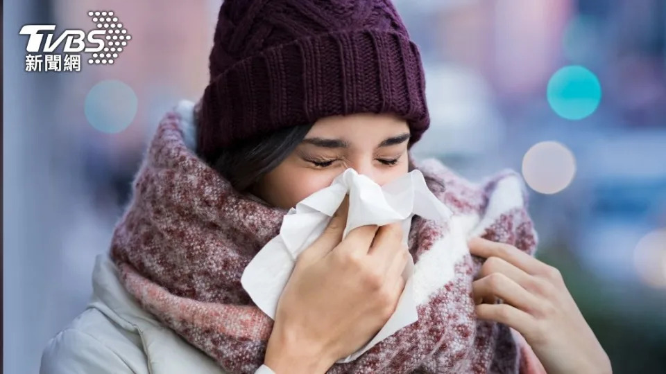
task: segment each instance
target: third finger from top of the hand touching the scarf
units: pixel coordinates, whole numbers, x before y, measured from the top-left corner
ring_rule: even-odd
[[[502,273],[493,273],[472,283],[474,299],[495,303],[497,298],[528,314],[538,307],[539,299]]]

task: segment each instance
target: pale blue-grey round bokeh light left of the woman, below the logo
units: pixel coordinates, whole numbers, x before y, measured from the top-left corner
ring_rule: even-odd
[[[119,80],[103,80],[85,97],[84,112],[92,127],[115,134],[132,123],[137,107],[137,94],[132,87]]]

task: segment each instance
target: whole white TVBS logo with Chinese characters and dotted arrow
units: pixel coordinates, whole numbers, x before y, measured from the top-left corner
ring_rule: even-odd
[[[91,53],[89,64],[113,64],[131,35],[114,12],[90,11],[88,16],[97,27],[87,33],[67,29],[56,36],[56,25],[23,26],[19,35],[28,35],[26,71],[80,71],[80,53]],[[60,46],[62,55],[54,54]]]

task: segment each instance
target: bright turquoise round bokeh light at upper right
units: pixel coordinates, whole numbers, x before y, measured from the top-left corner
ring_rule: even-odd
[[[565,66],[550,78],[547,98],[559,116],[580,120],[599,107],[601,84],[597,75],[583,66]]]

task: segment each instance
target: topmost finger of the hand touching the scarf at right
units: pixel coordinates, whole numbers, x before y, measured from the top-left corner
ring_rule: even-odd
[[[484,238],[472,238],[468,241],[470,253],[475,256],[490,258],[491,256],[502,258],[515,267],[522,269],[527,274],[543,274],[547,269],[545,263],[520,251],[511,244],[493,242]]]

